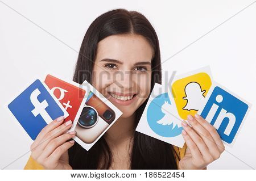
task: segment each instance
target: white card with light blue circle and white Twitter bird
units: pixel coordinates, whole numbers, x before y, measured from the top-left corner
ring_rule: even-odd
[[[136,131],[183,148],[182,120],[175,116],[175,111],[175,103],[167,90],[155,83]]]

